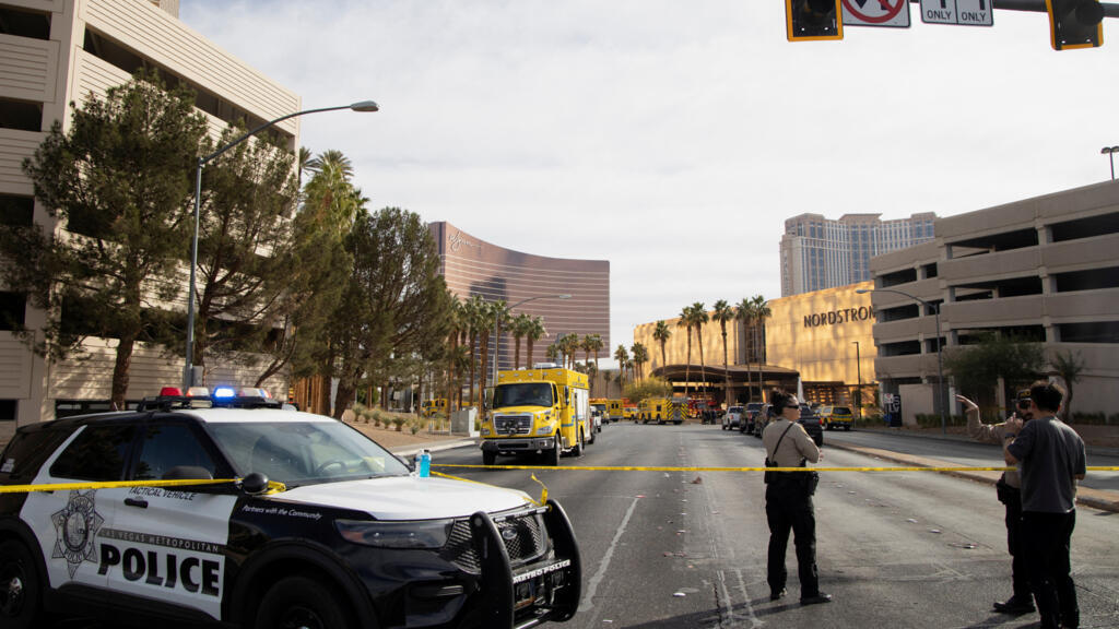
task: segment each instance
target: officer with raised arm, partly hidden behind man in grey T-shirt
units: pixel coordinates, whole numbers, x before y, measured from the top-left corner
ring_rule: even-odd
[[[1028,420],[1028,392],[1019,395],[1016,411],[1010,420],[1021,417]],[[968,435],[976,441],[1005,445],[1013,439],[1017,430],[1010,431],[1009,423],[985,424],[979,419],[979,405],[962,395],[956,398],[963,405],[968,416]],[[1010,552],[1010,584],[1013,593],[1006,602],[996,602],[995,611],[1002,613],[1033,613],[1034,601],[1029,594],[1029,576],[1026,571],[1026,556],[1022,546],[1022,477],[1017,470],[1005,471],[995,484],[998,501],[1006,506],[1006,546]]]

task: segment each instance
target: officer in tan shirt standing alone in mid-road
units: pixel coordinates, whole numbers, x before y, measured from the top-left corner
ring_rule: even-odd
[[[803,426],[800,404],[796,395],[782,389],[770,393],[770,402],[777,415],[762,432],[767,459],[775,467],[796,468],[805,461],[820,460],[820,450]],[[797,546],[797,572],[800,576],[800,603],[826,603],[831,594],[820,592],[819,574],[816,567],[816,514],[809,477],[815,472],[771,472],[772,479],[765,487],[765,517],[770,527],[768,580],[770,600],[786,595],[784,555],[792,531]],[[770,476],[769,473],[767,476]]]

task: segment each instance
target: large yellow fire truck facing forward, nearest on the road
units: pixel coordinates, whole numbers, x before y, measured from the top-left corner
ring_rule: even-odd
[[[551,466],[594,443],[586,374],[551,364],[498,372],[482,423],[482,462],[498,454],[539,454]]]

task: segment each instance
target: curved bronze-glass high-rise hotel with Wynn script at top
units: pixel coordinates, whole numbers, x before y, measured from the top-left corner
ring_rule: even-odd
[[[532,360],[526,360],[527,346],[521,341],[521,366],[544,362],[547,347],[561,335],[599,335],[602,337],[599,357],[610,356],[609,261],[521,253],[487,243],[445,222],[431,223],[429,229],[439,248],[446,285],[459,299],[477,294],[486,301],[505,300],[507,306],[514,306],[529,298],[545,298],[514,309],[514,314],[542,317],[547,328],[547,336],[533,346]],[[570,294],[571,299],[546,298],[558,294]],[[515,340],[504,329],[499,349],[499,368],[511,368]],[[583,359],[582,351],[577,359]]]

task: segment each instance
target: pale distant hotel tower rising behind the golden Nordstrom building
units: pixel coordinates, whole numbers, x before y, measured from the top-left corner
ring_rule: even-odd
[[[784,222],[781,295],[846,287],[871,279],[869,261],[933,237],[932,213],[882,220],[881,214],[845,214],[829,220],[801,214]]]

